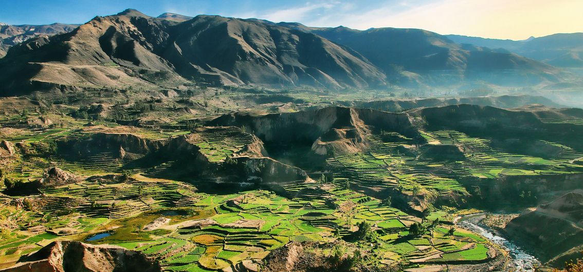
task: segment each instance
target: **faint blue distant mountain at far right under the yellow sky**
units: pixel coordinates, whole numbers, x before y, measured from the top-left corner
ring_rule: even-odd
[[[446,35],[458,44],[505,50],[559,67],[583,67],[583,33],[553,34],[528,40],[496,40],[490,38]]]

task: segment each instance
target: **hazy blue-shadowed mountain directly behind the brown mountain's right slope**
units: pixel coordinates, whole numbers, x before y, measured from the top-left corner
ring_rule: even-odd
[[[519,86],[560,80],[559,70],[550,65],[503,50],[462,46],[426,30],[341,26],[308,31],[352,48],[389,77],[398,73],[409,80],[404,83],[434,86],[466,80]]]

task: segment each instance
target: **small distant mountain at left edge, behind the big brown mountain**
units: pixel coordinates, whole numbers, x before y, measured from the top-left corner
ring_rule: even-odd
[[[11,26],[9,24],[0,23],[0,58],[6,55],[8,48],[22,43],[29,38],[37,37],[39,35],[51,36],[59,33],[66,33],[78,26],[78,24],[59,23],[38,26],[31,24]]]

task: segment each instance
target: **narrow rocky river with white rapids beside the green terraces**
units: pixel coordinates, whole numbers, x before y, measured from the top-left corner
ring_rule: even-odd
[[[458,217],[455,220],[456,225],[459,227],[469,229],[470,231],[476,232],[489,239],[491,242],[500,245],[501,248],[507,250],[510,253],[512,268],[517,272],[533,272],[534,266],[540,265],[538,259],[535,256],[530,255],[520,248],[520,246],[515,245],[512,241],[504,238],[500,235],[500,232],[495,229],[488,228],[479,222],[486,217],[486,214],[470,214],[468,216]]]

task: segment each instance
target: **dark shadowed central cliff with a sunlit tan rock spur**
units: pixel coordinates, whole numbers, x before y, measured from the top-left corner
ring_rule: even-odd
[[[344,107],[266,115],[227,114],[209,125],[245,126],[265,143],[310,146],[320,155],[361,151],[368,146],[371,131],[419,136],[407,114]]]

